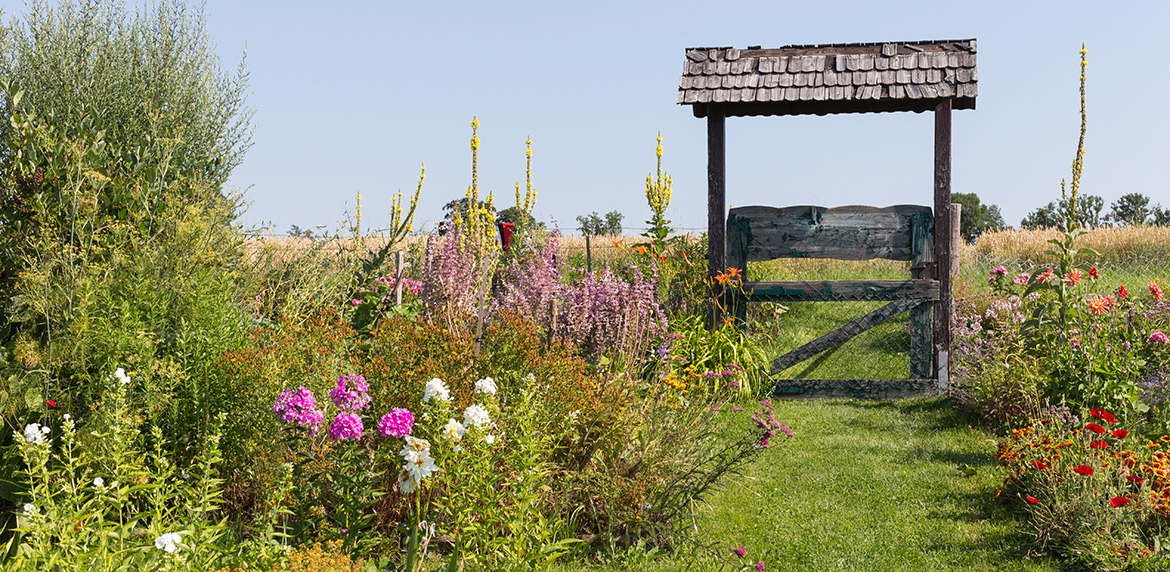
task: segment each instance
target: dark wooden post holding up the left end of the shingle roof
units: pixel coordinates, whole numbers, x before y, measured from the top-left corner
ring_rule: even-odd
[[[709,325],[723,321],[717,297],[722,288],[714,283],[715,275],[727,268],[727,197],[724,175],[723,108],[711,105],[707,111],[707,278],[710,291]]]

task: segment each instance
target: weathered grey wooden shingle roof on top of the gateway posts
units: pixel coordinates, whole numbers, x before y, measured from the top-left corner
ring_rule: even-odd
[[[690,48],[679,103],[695,117],[975,109],[975,40]]]

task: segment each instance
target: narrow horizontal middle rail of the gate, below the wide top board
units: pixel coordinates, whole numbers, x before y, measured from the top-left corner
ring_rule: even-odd
[[[729,248],[742,248],[732,234]],[[738,253],[736,256],[739,256]],[[736,262],[729,263],[734,264]],[[741,267],[736,267],[741,268]],[[895,299],[938,299],[936,280],[793,280],[744,282],[751,302],[889,302]]]

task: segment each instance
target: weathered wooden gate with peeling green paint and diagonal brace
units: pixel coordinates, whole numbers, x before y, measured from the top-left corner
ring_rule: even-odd
[[[888,259],[910,262],[908,280],[743,282],[724,299],[742,324],[750,302],[889,302],[801,345],[772,363],[777,374],[830,351],[895,316],[910,312],[909,379],[785,379],[777,393],[815,397],[894,398],[938,391],[931,367],[937,280],[925,278],[934,261],[930,207],[847,206],[739,207],[727,223],[728,267],[746,276],[749,261],[775,259]]]

